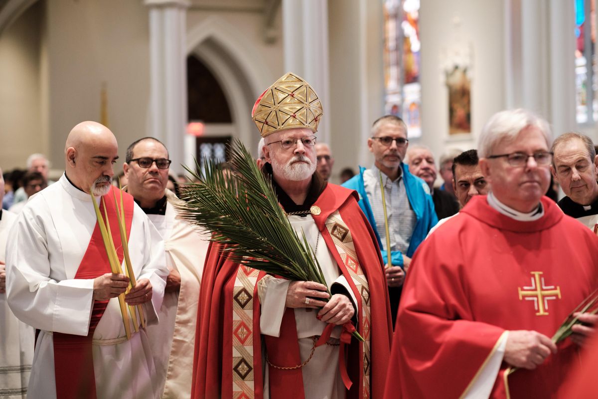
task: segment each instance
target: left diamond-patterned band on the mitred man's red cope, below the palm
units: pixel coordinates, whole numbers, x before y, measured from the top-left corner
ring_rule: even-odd
[[[233,288],[233,398],[254,397],[254,288],[259,270],[239,266]]]

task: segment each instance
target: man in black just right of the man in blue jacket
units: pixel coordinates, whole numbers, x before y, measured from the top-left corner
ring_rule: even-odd
[[[434,209],[438,220],[450,217],[459,212],[459,204],[455,197],[444,190],[434,190],[436,182],[436,164],[432,151],[425,145],[412,145],[407,150],[409,171],[425,181],[432,193]]]

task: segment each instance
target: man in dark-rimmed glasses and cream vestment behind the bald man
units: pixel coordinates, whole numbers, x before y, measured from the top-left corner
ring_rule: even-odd
[[[188,398],[193,371],[191,337],[195,334],[197,298],[209,236],[176,217],[173,205],[180,200],[166,189],[169,166],[164,144],[146,137],[129,145],[123,170],[128,179],[126,191],[164,239],[170,272],[158,311],[160,323],[147,328],[158,396]]]

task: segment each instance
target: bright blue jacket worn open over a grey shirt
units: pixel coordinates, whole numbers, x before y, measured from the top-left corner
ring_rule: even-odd
[[[407,254],[405,254],[408,257],[412,257],[417,247],[428,235],[430,229],[432,229],[432,227],[434,227],[434,225],[438,223],[438,217],[436,216],[436,212],[434,211],[434,202],[432,201],[432,196],[429,194],[429,190],[427,190],[428,185],[426,184],[426,182],[420,179],[419,177],[412,175],[409,172],[409,167],[404,163],[401,163],[401,167],[403,170],[402,176],[403,181],[405,183],[405,190],[407,191],[407,199],[409,200],[411,208],[413,208],[413,212],[415,212],[417,218],[415,228],[413,229],[413,234],[411,234],[409,248],[407,248]],[[364,170],[365,167],[359,166],[359,174],[353,176],[351,179],[347,180],[342,185],[343,187],[351,188],[352,190],[357,190],[357,192],[359,193],[359,206],[361,207],[361,210],[364,211],[365,216],[370,221],[372,229],[374,229],[374,233],[376,233],[378,245],[382,249],[384,248],[384,246],[382,245],[382,241],[380,240],[380,234],[376,229],[376,221],[374,220],[374,214],[372,212],[370,200],[368,200],[368,196],[365,193]],[[384,263],[386,264],[386,251],[382,249],[381,252]],[[392,264],[394,266],[403,266],[403,255],[401,254],[401,252],[392,251],[390,256],[390,259],[392,260]]]

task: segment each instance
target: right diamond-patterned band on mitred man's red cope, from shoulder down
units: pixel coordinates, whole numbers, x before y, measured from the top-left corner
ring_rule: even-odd
[[[370,398],[370,288],[368,287],[367,278],[365,277],[361,266],[359,266],[351,232],[349,232],[347,225],[344,224],[338,211],[332,213],[327,218],[326,228],[332,237],[332,241],[334,241],[334,246],[343,261],[344,266],[347,267],[347,271],[361,296],[361,315],[359,315],[358,319],[361,321],[362,328],[361,331],[359,331],[358,327],[358,331],[365,339],[365,342],[363,343],[363,398]]]

